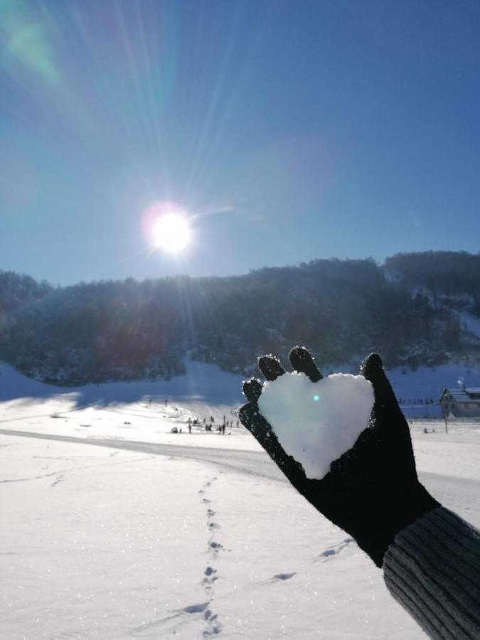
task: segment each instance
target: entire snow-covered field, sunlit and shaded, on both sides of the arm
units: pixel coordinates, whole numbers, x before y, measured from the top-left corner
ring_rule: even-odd
[[[65,393],[0,366],[2,639],[425,637],[236,427],[239,383],[194,365]],[[480,526],[480,425],[411,428],[422,481]]]

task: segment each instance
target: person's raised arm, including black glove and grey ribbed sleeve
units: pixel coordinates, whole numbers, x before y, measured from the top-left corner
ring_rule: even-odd
[[[321,380],[305,348],[289,358],[294,370]],[[259,367],[267,381],[284,373],[272,356],[262,356]],[[383,567],[390,594],[430,638],[479,640],[480,531],[420,484],[410,430],[378,354],[366,358],[361,374],[375,394],[370,424],[321,480],[309,479],[284,451],[259,412],[262,385],[253,378],[243,385],[240,420],[295,489]]]

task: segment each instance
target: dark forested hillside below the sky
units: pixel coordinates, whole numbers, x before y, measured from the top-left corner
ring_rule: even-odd
[[[462,353],[462,329],[452,304],[432,303],[430,292],[466,296],[478,314],[479,261],[427,252],[385,265],[314,260],[236,277],[70,287],[0,272],[0,358],[61,385],[169,378],[184,372],[186,355],[247,374],[260,354],[285,358],[295,344],[313,349],[320,366],[370,351],[388,366],[433,366]]]

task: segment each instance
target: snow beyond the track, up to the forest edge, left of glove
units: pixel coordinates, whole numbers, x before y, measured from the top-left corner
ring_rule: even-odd
[[[60,388],[30,380],[5,363],[0,363],[0,426],[8,420],[26,418],[26,430],[76,437],[135,439],[140,442],[188,444],[211,447],[223,438],[223,447],[256,448],[240,437],[235,410],[242,402],[242,376],[224,373],[214,365],[191,362],[187,375],[171,381],[139,380],[102,383],[79,388]],[[3,400],[3,402],[2,402]],[[165,400],[167,400],[165,404]],[[206,421],[213,417],[213,432],[206,432]],[[188,434],[188,419],[197,425]],[[215,426],[226,422],[225,436]],[[93,425],[93,426],[92,426]],[[172,434],[172,427],[182,433]],[[216,443],[215,445],[216,446]]]

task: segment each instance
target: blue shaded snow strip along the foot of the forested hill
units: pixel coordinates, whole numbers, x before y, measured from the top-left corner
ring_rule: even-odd
[[[480,336],[480,329],[479,329]],[[78,388],[61,388],[39,383],[25,378],[13,367],[0,361],[0,402],[2,400],[21,400],[31,398],[37,401],[58,398],[65,402],[65,408],[78,408],[88,405],[110,406],[124,403],[161,405],[164,400],[178,402],[189,407],[192,414],[199,412],[201,417],[213,415],[215,420],[223,420],[233,407],[243,402],[241,394],[242,375],[225,373],[212,364],[186,361],[186,375],[166,380],[136,380],[133,382],[101,383]],[[345,365],[338,368],[341,373],[358,373],[358,367]],[[324,375],[336,373],[336,369],[325,368]],[[412,371],[408,368],[388,370],[388,378],[393,385],[397,398],[402,400],[402,409],[409,417],[440,417],[437,405],[418,405],[416,400],[434,400],[437,402],[443,387],[454,387],[457,380],[463,378],[467,387],[480,387],[480,362],[449,363],[434,368],[419,367]]]

